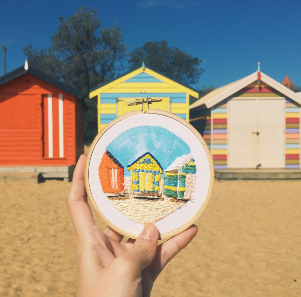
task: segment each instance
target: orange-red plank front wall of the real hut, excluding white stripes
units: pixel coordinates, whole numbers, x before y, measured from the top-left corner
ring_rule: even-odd
[[[48,94],[52,95],[53,106],[58,105],[59,94],[63,96],[63,158],[43,157],[41,104]],[[0,165],[76,164],[75,100],[74,96],[28,73],[0,86]],[[54,145],[59,141],[55,133]]]

